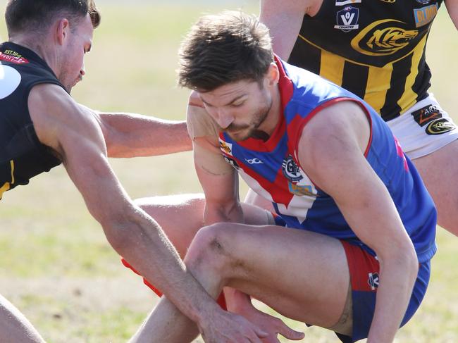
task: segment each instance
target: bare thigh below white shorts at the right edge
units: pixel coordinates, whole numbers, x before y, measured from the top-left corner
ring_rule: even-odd
[[[438,224],[458,235],[458,140],[413,160],[438,208]]]

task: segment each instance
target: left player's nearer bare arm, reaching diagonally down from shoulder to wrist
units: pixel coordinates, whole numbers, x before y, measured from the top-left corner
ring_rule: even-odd
[[[161,227],[123,190],[109,166],[104,136],[92,113],[55,85],[35,86],[29,108],[37,136],[61,156],[113,248],[145,277],[160,275],[158,286],[166,289],[180,311],[197,323],[206,322],[218,306],[187,272]]]

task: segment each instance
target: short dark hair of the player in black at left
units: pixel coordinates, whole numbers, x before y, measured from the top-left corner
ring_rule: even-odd
[[[8,0],[5,11],[8,35],[33,30],[40,32],[58,15],[78,23],[89,13],[92,26],[100,24],[100,13],[94,0]]]

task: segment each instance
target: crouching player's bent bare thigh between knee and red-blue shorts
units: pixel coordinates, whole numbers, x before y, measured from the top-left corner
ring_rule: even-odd
[[[213,232],[209,249],[201,249],[213,249],[216,256],[207,256],[213,261],[221,255],[226,285],[289,318],[325,328],[339,320],[349,270],[338,239],[272,225],[221,223],[204,230]]]

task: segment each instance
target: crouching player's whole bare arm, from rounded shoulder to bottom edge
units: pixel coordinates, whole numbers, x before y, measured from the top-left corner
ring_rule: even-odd
[[[357,104],[342,102],[304,127],[298,155],[311,180],[335,199],[359,239],[376,251],[380,285],[368,342],[392,342],[411,296],[418,260],[388,190],[364,157],[367,144],[366,115]]]

